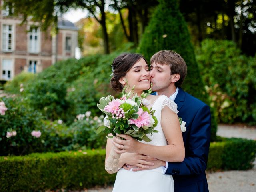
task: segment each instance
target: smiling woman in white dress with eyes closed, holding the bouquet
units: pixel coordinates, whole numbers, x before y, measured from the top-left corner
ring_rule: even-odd
[[[144,57],[139,54],[121,54],[116,57],[112,64],[113,77],[111,85],[114,90],[121,92],[124,86],[128,90],[135,85],[134,93],[140,96],[143,90],[150,88],[149,67]],[[134,172],[125,170],[122,166],[126,162],[123,155],[127,153],[140,153],[148,158],[157,158],[166,162],[182,162],[185,157],[184,143],[178,120],[177,105],[164,95],[148,95],[146,98],[150,105],[148,108],[155,110],[158,124],[155,130],[158,133],[148,134],[150,142],[138,141],[128,135],[118,135],[108,138],[106,144],[106,160],[112,146],[116,146],[120,153],[118,173],[113,192],[173,192],[174,181],[172,175],[164,175],[164,167],[153,170]],[[105,160],[105,162],[106,162]],[[108,171],[109,173],[114,173]]]

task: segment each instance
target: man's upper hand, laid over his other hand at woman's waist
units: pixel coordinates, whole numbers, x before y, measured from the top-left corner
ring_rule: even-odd
[[[124,162],[123,168],[126,170],[130,170],[131,166],[147,169],[150,168],[150,166],[153,166],[154,161],[157,160],[156,158],[139,153],[124,153],[120,158],[120,160]],[[127,165],[129,165],[130,168],[128,168]]]

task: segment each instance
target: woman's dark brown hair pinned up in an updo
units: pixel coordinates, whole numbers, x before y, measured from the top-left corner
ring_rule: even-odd
[[[148,64],[142,55],[136,53],[123,53],[114,59],[112,63],[112,78],[110,83],[116,92],[122,92],[123,85],[119,82],[120,78],[124,77],[140,58],[144,59]]]

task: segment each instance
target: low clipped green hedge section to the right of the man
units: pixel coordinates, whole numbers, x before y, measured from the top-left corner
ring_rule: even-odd
[[[247,170],[253,167],[256,141],[240,138],[222,138],[212,142],[208,158],[208,170]]]

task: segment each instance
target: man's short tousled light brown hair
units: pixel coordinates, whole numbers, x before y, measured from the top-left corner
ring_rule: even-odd
[[[180,79],[175,82],[175,86],[180,87],[182,85],[187,74],[187,65],[180,54],[171,50],[161,50],[151,57],[150,64],[154,62],[161,65],[169,65],[171,74],[180,74]]]

